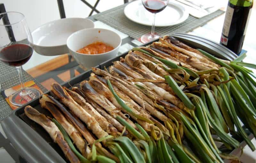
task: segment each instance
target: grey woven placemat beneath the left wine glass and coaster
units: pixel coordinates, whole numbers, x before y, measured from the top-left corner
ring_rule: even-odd
[[[38,87],[43,91],[46,92],[47,89],[44,88],[39,82],[37,82],[32,76],[30,76],[26,71],[22,71],[23,80],[24,82],[28,82],[33,80]],[[20,78],[18,72],[15,67],[7,66],[3,62],[0,61],[0,84],[2,92],[5,89],[11,88],[20,84]],[[12,109],[5,101],[4,97],[0,93],[0,122],[7,118],[12,113]]]

